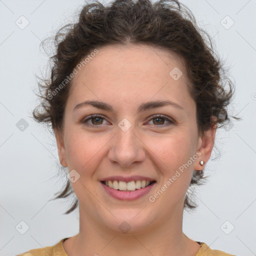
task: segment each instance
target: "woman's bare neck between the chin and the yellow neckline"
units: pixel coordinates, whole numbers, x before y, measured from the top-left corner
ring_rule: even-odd
[[[200,248],[198,243],[182,232],[182,212],[180,214],[179,210],[146,232],[131,234],[110,232],[93,218],[88,220],[88,216],[82,217],[85,216],[82,207],[79,211],[79,233],[68,239],[68,246],[63,245],[68,256],[194,256]]]

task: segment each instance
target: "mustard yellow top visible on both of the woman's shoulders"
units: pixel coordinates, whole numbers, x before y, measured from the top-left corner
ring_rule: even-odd
[[[16,256],[67,256],[64,247],[63,247],[63,241],[68,239],[69,237],[65,237],[61,239],[59,242],[57,242],[53,246],[46,246],[44,248],[36,248],[36,249],[30,249],[26,252],[23,252],[21,254],[18,254]],[[234,256],[228,253],[225,253],[221,250],[212,250],[206,243],[204,242],[198,242],[201,247],[196,253],[195,256]]]

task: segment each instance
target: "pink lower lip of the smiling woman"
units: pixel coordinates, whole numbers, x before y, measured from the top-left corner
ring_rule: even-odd
[[[120,200],[135,200],[139,197],[142,197],[143,195],[147,194],[150,189],[152,188],[152,186],[156,183],[152,183],[149,186],[143,187],[143,188],[139,188],[137,190],[134,191],[121,191],[121,190],[116,190],[114,188],[111,188],[105,184],[103,184],[102,182],[100,182],[101,185],[104,187],[104,189],[106,190],[106,192],[108,194],[110,194],[112,197],[116,198],[116,199],[120,199]]]

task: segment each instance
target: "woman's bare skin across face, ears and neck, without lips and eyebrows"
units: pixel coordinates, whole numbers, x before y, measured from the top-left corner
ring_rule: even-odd
[[[183,202],[193,170],[201,170],[199,161],[206,163],[210,157],[216,126],[198,135],[196,105],[182,61],[173,53],[143,44],[98,50],[73,78],[63,131],[55,130],[60,163],[80,175],[71,183],[79,200],[79,233],[63,247],[68,256],[195,255],[200,245],[182,232]],[[169,75],[174,67],[183,72],[178,80]],[[114,113],[93,106],[73,111],[85,100],[106,102]],[[171,100],[183,110],[167,105],[137,113],[137,107],[150,100]],[[104,118],[88,120],[94,125],[89,127],[82,120],[91,114]],[[154,114],[175,122],[151,117]],[[125,132],[118,126],[123,118],[131,124]],[[150,202],[149,195],[198,151],[201,155]],[[141,198],[119,200],[99,182],[112,175],[148,176],[156,184]],[[123,221],[131,227],[127,233],[118,228]]]

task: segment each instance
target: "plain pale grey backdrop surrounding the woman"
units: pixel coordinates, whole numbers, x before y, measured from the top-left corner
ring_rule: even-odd
[[[72,21],[83,2],[0,0],[0,255],[50,246],[79,230],[78,211],[62,215],[68,201],[48,201],[65,179],[52,178],[57,173],[54,138],[29,114],[36,104],[34,73],[47,63],[40,40]],[[196,190],[198,208],[184,213],[183,231],[212,249],[256,255],[256,0],[181,2],[214,36],[215,48],[227,60],[236,85],[231,110],[243,118],[217,132],[221,157],[212,160],[212,153],[206,165],[211,177]],[[25,24],[21,15],[29,21],[23,29],[15,23]],[[21,118],[28,124],[23,130]]]

